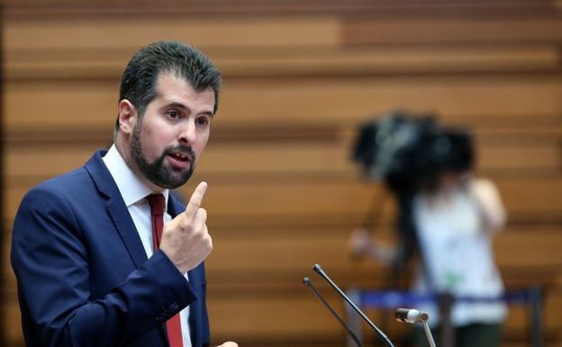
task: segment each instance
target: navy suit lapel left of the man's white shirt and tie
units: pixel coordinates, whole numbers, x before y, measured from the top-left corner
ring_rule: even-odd
[[[139,268],[147,260],[146,252],[127,206],[122,200],[121,193],[102,160],[104,153],[105,151],[96,151],[94,156],[86,162],[86,170],[98,191],[106,196],[107,212],[111,216],[125,248],[129,251],[135,267]]]

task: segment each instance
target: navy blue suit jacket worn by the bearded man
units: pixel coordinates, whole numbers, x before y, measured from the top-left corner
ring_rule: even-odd
[[[162,251],[147,259],[103,154],[23,197],[12,266],[26,345],[165,347],[186,306],[193,346],[208,345],[204,265],[187,281]],[[168,213],[183,210],[170,195]]]

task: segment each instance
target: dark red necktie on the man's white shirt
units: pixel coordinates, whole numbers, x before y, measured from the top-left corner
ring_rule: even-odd
[[[162,229],[164,228],[164,211],[166,210],[166,199],[161,194],[151,194],[149,196],[150,216],[152,217],[152,240],[154,251],[160,247],[162,239]],[[183,347],[184,342],[181,335],[181,323],[179,313],[174,315],[166,322],[168,340],[170,347]]]

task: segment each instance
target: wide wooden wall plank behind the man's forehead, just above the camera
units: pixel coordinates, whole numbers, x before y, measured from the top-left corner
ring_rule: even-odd
[[[10,129],[107,129],[116,117],[118,78],[108,82],[15,82],[5,92]],[[224,83],[216,126],[334,124],[344,129],[396,108],[433,112],[480,126],[546,125],[560,130],[562,82],[556,76],[439,78],[273,78]],[[303,114],[306,114],[305,121]],[[512,124],[513,123],[513,124]],[[91,129],[91,128],[90,128]]]

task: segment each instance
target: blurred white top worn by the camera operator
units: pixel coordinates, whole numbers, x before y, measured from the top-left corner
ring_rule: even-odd
[[[463,188],[454,189],[447,199],[416,196],[413,218],[427,272],[419,269],[414,291],[448,291],[454,296],[470,297],[503,294],[502,279],[494,263],[492,233],[486,230],[482,207]],[[424,305],[420,309],[430,315],[432,326],[439,323],[437,306]],[[500,323],[505,315],[506,306],[501,302],[458,303],[452,307],[451,323]]]

